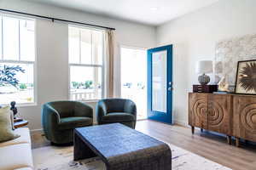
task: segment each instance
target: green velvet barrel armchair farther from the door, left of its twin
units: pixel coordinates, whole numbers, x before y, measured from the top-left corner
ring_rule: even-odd
[[[73,129],[93,124],[93,110],[78,101],[54,101],[43,105],[42,125],[46,139],[54,144],[73,142]]]

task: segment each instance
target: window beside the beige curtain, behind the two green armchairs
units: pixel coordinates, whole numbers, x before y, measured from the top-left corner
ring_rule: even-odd
[[[68,32],[70,99],[102,99],[103,31],[69,26]]]

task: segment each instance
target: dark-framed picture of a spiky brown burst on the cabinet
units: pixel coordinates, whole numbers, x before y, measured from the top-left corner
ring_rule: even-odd
[[[237,62],[235,94],[256,95],[256,59]]]

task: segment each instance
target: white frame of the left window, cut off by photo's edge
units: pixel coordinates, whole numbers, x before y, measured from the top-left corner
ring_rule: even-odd
[[[19,60],[17,59],[4,59],[3,58],[3,17],[9,17],[9,18],[13,18],[16,20],[19,20]],[[34,22],[34,50],[35,50],[35,54],[34,54],[34,61],[28,61],[28,60],[21,60],[20,59],[20,20],[32,20]],[[0,21],[1,21],[1,31],[0,32],[2,34],[2,38],[0,41],[2,41],[2,51],[0,54],[0,64],[29,64],[29,65],[33,65],[33,102],[27,102],[27,103],[16,103],[17,106],[19,107],[26,107],[26,106],[36,106],[38,105],[38,48],[37,48],[37,20],[33,19],[33,18],[29,18],[29,17],[23,17],[20,15],[15,15],[15,14],[4,14],[4,13],[0,13]],[[0,104],[0,105],[7,105],[7,104]]]

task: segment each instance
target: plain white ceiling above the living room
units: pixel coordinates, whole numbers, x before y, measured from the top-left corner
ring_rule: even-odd
[[[218,0],[28,0],[158,26]]]

